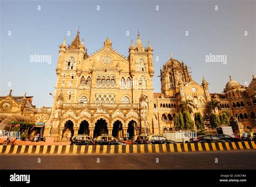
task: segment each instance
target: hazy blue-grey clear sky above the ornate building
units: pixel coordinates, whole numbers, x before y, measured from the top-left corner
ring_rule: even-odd
[[[3,1],[0,22],[0,95],[33,96],[37,107],[52,106],[60,45],[71,44],[78,26],[88,54],[112,47],[128,56],[138,29],[144,47],[154,49],[154,92],[160,92],[160,68],[173,58],[203,76],[210,92],[223,92],[229,75],[249,85],[255,74],[255,1]],[[69,34],[70,33],[70,34]],[[127,34],[129,33],[129,34]],[[51,63],[31,55],[51,55]],[[226,61],[206,62],[207,55]],[[159,59],[157,61],[157,59]],[[225,59],[225,58],[224,58]]]

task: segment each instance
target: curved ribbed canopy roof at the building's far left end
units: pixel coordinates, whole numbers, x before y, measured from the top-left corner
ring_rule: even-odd
[[[29,117],[12,115],[12,116],[9,116],[8,118],[5,118],[2,121],[2,123],[0,123],[0,130],[9,131],[12,124],[34,125],[33,122],[34,122],[33,119]]]

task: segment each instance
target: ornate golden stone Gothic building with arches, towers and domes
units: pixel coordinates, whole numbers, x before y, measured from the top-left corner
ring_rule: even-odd
[[[204,114],[207,101],[214,98],[220,100],[221,110],[238,117],[245,130],[254,128],[254,76],[247,87],[230,77],[224,93],[210,93],[206,79],[200,84],[194,81],[190,68],[171,54],[160,69],[161,92],[154,93],[153,48],[150,42],[144,48],[139,33],[136,43],[131,42],[128,57],[113,49],[109,38],[88,55],[79,34],[70,45],[64,39],[59,46],[52,107],[36,108],[32,97],[14,97],[10,92],[0,97],[1,124],[16,115],[27,117],[23,121],[43,124],[44,135],[56,139],[103,133],[131,138],[140,133],[173,131],[181,100],[192,100],[196,106],[193,113]]]

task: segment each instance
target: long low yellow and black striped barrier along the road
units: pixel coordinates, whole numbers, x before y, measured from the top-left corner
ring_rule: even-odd
[[[256,142],[175,143],[96,146],[0,146],[0,154],[128,154],[256,149]]]

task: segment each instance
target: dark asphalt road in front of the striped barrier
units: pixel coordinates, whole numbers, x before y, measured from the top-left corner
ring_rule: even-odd
[[[167,154],[0,155],[0,169],[255,169],[255,157],[255,150]],[[41,163],[38,163],[38,159]],[[218,163],[215,163],[216,159]]]

